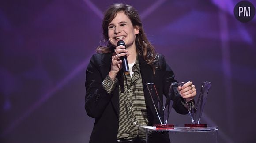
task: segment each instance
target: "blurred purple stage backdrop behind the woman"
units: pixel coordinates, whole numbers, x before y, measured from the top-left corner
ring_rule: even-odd
[[[239,0],[1,0],[0,142],[87,143],[85,70],[102,38],[103,11],[135,6],[176,79],[198,92],[211,81],[201,123],[220,143],[255,141],[256,18],[235,19]],[[250,0],[256,6],[256,0]],[[191,123],[172,111],[170,122]]]

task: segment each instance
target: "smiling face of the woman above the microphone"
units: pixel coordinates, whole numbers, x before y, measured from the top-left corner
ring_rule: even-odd
[[[136,48],[136,34],[139,34],[139,28],[133,27],[131,20],[124,12],[118,12],[116,17],[109,23],[109,41],[114,46],[117,46],[119,40],[124,40],[127,48]]]

